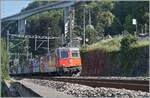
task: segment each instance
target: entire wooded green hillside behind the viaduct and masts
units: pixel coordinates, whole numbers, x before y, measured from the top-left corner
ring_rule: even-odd
[[[48,4],[56,2],[49,1],[34,1],[31,2],[26,8],[22,9],[22,12]],[[86,5],[86,6],[85,6]],[[149,27],[149,2],[148,1],[86,1],[79,2],[75,5],[75,28],[73,30],[74,35],[83,38],[83,16],[84,8],[85,12],[85,25],[87,26],[89,19],[89,10],[91,12],[91,24],[94,26],[94,30],[86,29],[86,37],[89,38],[88,44],[95,43],[97,40],[95,36],[101,37],[103,35],[121,34],[122,31],[127,30],[130,34],[134,33],[135,25],[132,24],[132,18],[137,19],[138,30],[144,27],[146,24],[147,32]],[[30,35],[47,35],[48,27],[51,28],[50,36],[61,36],[64,33],[64,20],[63,9],[55,9],[38,13],[26,19],[26,32]],[[8,28],[9,27],[9,28]],[[3,30],[3,28],[5,28]],[[13,24],[2,23],[3,35],[10,29],[10,33],[16,33],[17,22]],[[69,35],[69,34],[68,34]],[[83,41],[83,40],[82,40]],[[50,44],[51,48],[60,46],[60,40],[54,40]],[[45,52],[45,49],[39,49],[34,51],[34,40],[30,40],[31,50],[33,54]],[[43,46],[46,47],[46,44]]]

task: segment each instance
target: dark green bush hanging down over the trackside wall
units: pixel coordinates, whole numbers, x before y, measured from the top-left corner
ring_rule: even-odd
[[[130,74],[135,61],[138,58],[138,50],[131,47],[132,44],[136,44],[137,38],[132,35],[128,35],[121,40],[121,62],[122,69],[125,74]]]

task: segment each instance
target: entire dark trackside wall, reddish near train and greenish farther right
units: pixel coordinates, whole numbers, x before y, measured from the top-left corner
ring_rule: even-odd
[[[130,56],[135,52],[137,57]],[[106,52],[102,49],[81,51],[82,76],[148,76],[149,46],[133,48],[126,58],[127,63],[133,62],[128,68],[122,65],[121,51]]]

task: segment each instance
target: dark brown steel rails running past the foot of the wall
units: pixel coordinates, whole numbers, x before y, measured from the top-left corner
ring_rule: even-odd
[[[54,81],[77,83],[91,87],[124,88],[128,90],[136,90],[136,91],[140,90],[149,92],[148,80],[121,80],[121,79],[112,80],[112,79],[72,78],[72,77],[52,77],[50,79]]]

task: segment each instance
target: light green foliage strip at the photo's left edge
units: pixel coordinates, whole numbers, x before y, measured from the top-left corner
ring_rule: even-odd
[[[6,43],[3,39],[1,40],[0,52],[1,52],[1,68],[2,68],[2,79],[9,79],[8,75],[8,53],[6,49]]]

